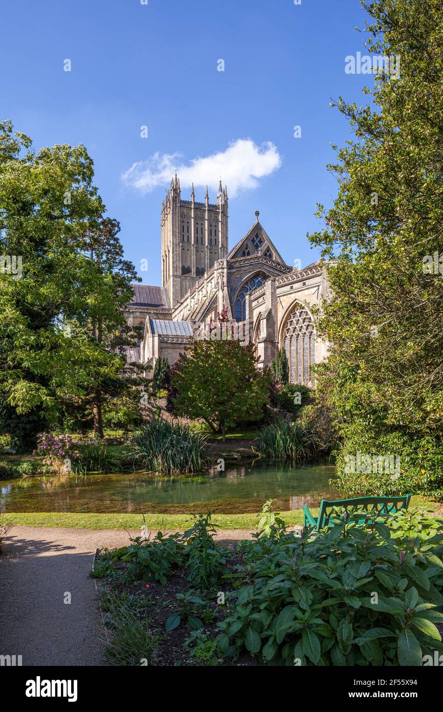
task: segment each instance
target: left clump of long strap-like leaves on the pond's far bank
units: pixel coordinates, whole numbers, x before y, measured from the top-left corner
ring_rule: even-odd
[[[197,472],[208,466],[206,437],[189,426],[154,418],[134,433],[130,443],[134,466],[151,472]]]

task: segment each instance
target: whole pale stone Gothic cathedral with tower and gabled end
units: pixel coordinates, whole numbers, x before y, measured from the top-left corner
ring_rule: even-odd
[[[223,309],[257,347],[259,367],[269,366],[279,348],[289,361],[289,378],[312,383],[311,366],[327,346],[316,338],[312,307],[326,298],[326,269],[284,263],[255,212],[255,222],[233,248],[228,246],[228,192],[221,181],[217,202],[183,200],[175,176],[161,205],[161,287],[134,285],[127,305],[130,325],[143,325],[144,338],[129,360],[170,364],[193,339],[196,325],[217,319]]]

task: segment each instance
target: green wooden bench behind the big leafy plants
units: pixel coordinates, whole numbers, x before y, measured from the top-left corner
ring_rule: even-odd
[[[342,507],[346,511],[346,518],[358,524],[364,524],[368,521],[381,521],[387,519],[391,514],[395,514],[400,509],[407,509],[410,503],[410,494],[404,497],[356,497],[353,499],[338,499],[329,501],[322,499],[320,503],[319,516],[313,517],[309,511],[309,507],[304,507],[304,527],[314,527],[316,531],[324,527],[331,527],[335,524],[343,522],[343,513],[334,512],[334,508]],[[361,513],[361,517],[358,515]]]

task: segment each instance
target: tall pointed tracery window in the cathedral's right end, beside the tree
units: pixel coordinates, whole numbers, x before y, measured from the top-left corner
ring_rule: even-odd
[[[303,307],[295,308],[284,328],[283,346],[289,363],[289,381],[307,385],[315,363],[314,323]]]

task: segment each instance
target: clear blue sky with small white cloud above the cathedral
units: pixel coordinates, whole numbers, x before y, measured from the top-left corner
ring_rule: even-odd
[[[231,247],[260,210],[287,263],[308,264],[318,258],[306,239],[319,227],[316,203],[336,194],[330,143],[351,137],[329,102],[362,103],[372,81],[344,71],[345,57],[364,51],[355,31],[364,20],[359,0],[4,4],[1,117],[36,148],[85,144],[127,258],[137,269],[148,259],[144,283],[160,283],[164,175],[174,167],[186,199],[194,173],[196,200],[208,182],[211,201],[218,172],[228,173]]]

